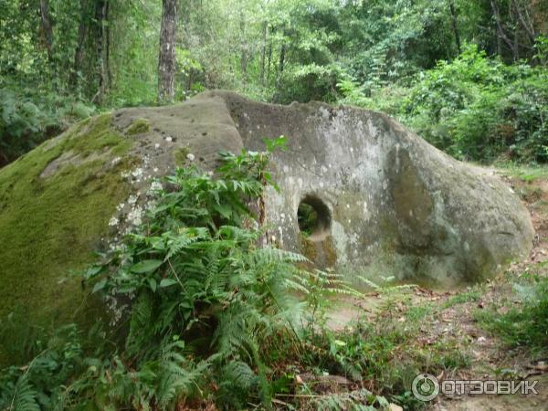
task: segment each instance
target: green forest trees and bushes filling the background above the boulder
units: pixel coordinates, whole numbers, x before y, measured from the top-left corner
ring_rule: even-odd
[[[543,163],[547,16],[541,0],[5,0],[0,164],[94,112],[212,89],[385,111],[459,159]]]

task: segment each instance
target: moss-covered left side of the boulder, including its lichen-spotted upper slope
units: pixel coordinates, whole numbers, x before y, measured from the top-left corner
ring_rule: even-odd
[[[142,222],[154,179],[239,152],[230,121],[225,105],[210,103],[102,114],[0,169],[0,318],[92,322],[73,272]]]

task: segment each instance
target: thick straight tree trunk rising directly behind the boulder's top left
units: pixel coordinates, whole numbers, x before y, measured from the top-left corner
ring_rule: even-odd
[[[177,1],[162,0],[160,57],[158,58],[158,102],[160,103],[174,100],[176,28]]]

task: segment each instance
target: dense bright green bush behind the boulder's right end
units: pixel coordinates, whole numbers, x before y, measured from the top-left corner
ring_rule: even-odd
[[[468,47],[452,63],[440,62],[411,90],[407,122],[457,157],[545,162],[548,144],[546,72],[505,66]]]

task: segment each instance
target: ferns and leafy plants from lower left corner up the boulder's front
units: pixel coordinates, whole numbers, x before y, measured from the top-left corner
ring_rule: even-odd
[[[129,320],[123,348],[87,356],[75,326],[61,329],[5,374],[5,406],[16,398],[47,408],[174,409],[214,383],[220,406],[270,404],[262,353],[282,336],[299,339],[301,304],[290,290],[306,258],[258,247],[263,232],[248,204],[269,180],[268,153],[223,153],[221,162],[215,177],[195,167],[167,177],[170,189],[142,230],[86,270],[113,321]]]

